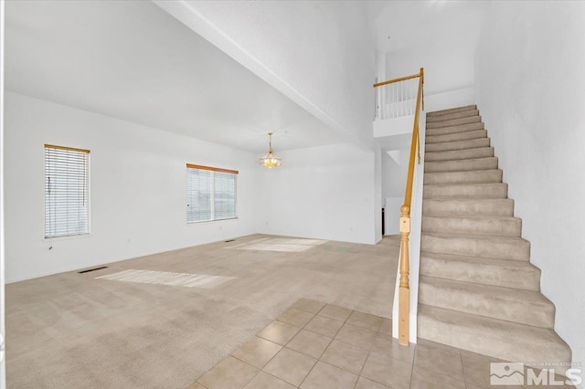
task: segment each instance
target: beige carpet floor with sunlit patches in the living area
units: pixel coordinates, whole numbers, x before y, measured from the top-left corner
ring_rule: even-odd
[[[255,235],[6,285],[8,387],[183,389],[300,298],[389,318],[398,244]],[[129,269],[232,279],[96,279]]]

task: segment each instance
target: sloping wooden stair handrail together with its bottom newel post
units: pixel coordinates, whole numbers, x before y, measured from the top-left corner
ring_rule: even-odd
[[[404,194],[404,205],[400,207],[400,280],[399,280],[399,344],[408,346],[410,342],[410,209],[412,204],[412,184],[414,182],[414,165],[418,153],[420,163],[420,139],[419,119],[422,102],[424,69],[420,68],[419,90],[417,92],[417,105],[414,111],[414,124],[412,128],[412,141],[410,142],[409,171],[406,178],[406,191]],[[409,76],[402,79],[413,79]]]

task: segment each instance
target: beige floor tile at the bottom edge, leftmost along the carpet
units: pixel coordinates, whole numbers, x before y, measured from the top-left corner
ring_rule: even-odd
[[[208,389],[243,387],[258,372],[254,366],[229,356],[199,377],[197,382]]]

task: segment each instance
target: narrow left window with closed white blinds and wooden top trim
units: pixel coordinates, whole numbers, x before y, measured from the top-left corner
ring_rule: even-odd
[[[90,233],[90,151],[45,145],[45,237]]]

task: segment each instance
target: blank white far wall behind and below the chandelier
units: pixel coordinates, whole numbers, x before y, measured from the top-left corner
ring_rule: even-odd
[[[374,152],[341,143],[276,153],[282,166],[260,174],[259,232],[367,244],[378,241],[373,217]]]

